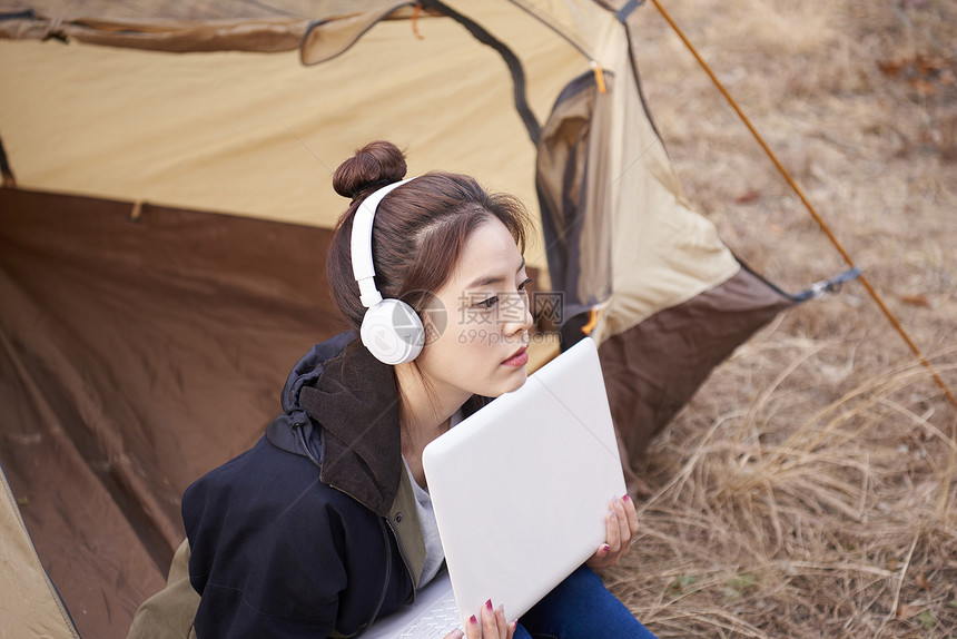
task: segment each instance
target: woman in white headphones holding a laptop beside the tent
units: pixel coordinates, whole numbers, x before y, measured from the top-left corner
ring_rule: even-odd
[[[525,382],[524,209],[461,175],[397,185],[405,171],[384,141],[338,167],[334,187],[352,204],[327,271],[353,331],[314,346],[265,436],[184,495],[200,638],[351,637],[410,601],[443,562],[423,449]],[[373,267],[374,279],[358,273]],[[397,334],[373,326],[384,306]],[[588,567],[521,620],[486,602],[447,639],[651,637],[591,571],[615,563],[637,529],[628,497],[613,500]]]

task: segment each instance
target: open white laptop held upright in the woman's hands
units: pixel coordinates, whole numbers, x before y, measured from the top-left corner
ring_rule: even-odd
[[[433,441],[423,465],[448,570],[365,637],[441,639],[487,599],[516,619],[598,550],[625,484],[594,341]]]

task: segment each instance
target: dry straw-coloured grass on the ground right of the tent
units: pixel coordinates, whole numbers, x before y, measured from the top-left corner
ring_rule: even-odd
[[[957,3],[661,0],[957,391]],[[699,210],[797,291],[846,268],[651,3]],[[649,450],[605,577],[660,637],[957,636],[957,410],[858,283],[780,316]]]

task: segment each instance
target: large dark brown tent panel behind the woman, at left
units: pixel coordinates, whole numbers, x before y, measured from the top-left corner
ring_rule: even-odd
[[[125,637],[179,499],[248,448],[329,312],[329,232],[0,189],[0,462],[81,635]]]

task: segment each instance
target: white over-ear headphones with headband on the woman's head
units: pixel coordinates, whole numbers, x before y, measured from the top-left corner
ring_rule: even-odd
[[[425,328],[418,314],[402,299],[383,299],[375,287],[372,262],[372,223],[378,203],[411,177],[384,186],[366,197],[353,217],[353,276],[359,286],[359,301],[367,308],[359,328],[362,343],[375,357],[386,364],[412,362],[425,344]]]

